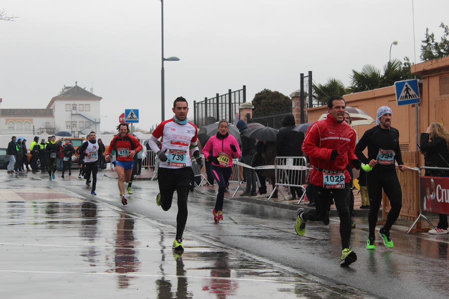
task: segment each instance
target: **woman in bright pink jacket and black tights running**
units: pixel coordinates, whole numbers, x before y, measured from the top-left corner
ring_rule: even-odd
[[[210,150],[212,149],[212,155]],[[227,122],[221,120],[219,122],[217,135],[211,137],[203,148],[205,159],[212,162],[212,174],[219,185],[217,201],[215,208],[212,210],[214,221],[223,220],[223,199],[229,177],[232,174],[232,158],[240,157],[240,148],[237,141],[232,135],[227,133]]]

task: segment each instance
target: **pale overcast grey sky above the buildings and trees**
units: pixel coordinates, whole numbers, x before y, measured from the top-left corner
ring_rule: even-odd
[[[0,21],[1,108],[45,108],[75,81],[103,97],[102,129],[128,108],[138,127],[161,121],[160,0],[3,0],[19,16]],[[426,27],[440,39],[448,0],[415,0],[416,56]],[[165,0],[166,118],[178,96],[193,101],[246,85],[285,95],[299,74],[349,85],[352,69],[414,61],[412,0]]]

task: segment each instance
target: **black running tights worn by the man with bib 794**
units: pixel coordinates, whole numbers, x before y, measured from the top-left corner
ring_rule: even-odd
[[[387,222],[384,229],[389,232],[402,208],[402,191],[396,171],[385,171],[376,173],[374,171],[366,174],[368,193],[370,194],[370,212],[368,214],[369,238],[375,237],[377,215],[382,202],[382,189],[390,200],[391,209],[388,212]]]

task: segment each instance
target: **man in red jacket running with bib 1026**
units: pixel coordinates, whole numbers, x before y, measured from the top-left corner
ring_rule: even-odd
[[[351,239],[351,215],[349,214],[349,182],[351,177],[346,165],[360,168],[360,160],[354,153],[355,131],[344,122],[346,103],[342,97],[331,97],[327,118],[314,123],[307,129],[302,150],[309,157],[313,169],[309,180],[315,193],[316,209],[297,211],[295,231],[305,234],[308,220],[322,221],[328,211],[329,200],[334,198],[340,217],[342,244],[341,266],[348,266],[357,260],[355,252],[349,249]],[[332,193],[332,194],[330,194]]]

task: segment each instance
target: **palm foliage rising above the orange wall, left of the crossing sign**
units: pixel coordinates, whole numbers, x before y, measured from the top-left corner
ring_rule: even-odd
[[[360,92],[376,88],[386,87],[408,78],[403,78],[402,62],[398,59],[389,61],[383,69],[384,73],[374,65],[366,64],[360,72],[352,70],[351,92]]]

